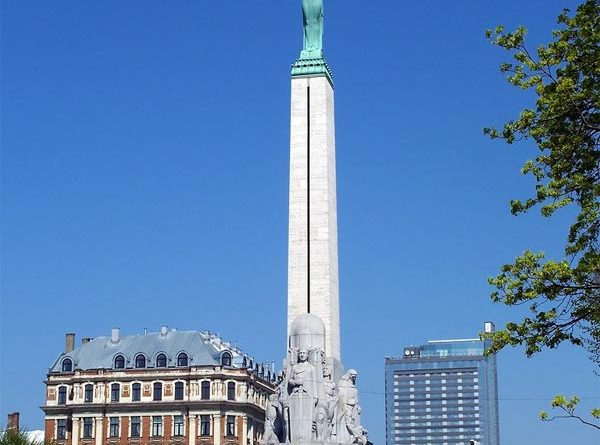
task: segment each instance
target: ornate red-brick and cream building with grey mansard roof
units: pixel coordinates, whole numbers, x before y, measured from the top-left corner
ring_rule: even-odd
[[[253,445],[274,392],[268,364],[208,332],[67,334],[48,372],[45,437],[57,445]]]

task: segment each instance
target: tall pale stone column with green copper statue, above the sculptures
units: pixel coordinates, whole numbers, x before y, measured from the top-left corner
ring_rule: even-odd
[[[333,76],[323,55],[323,1],[303,0],[304,48],[292,65],[288,336],[310,313],[339,370],[340,321]]]

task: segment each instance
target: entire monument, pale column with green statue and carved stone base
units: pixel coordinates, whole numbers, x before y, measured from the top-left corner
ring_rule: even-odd
[[[268,401],[262,445],[360,444],[355,370],[340,355],[333,75],[323,1],[303,0],[304,45],[292,65],[288,355]]]

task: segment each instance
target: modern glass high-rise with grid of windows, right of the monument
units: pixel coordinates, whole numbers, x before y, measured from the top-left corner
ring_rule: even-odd
[[[483,355],[487,345],[435,340],[386,358],[386,445],[499,445],[496,358]]]

